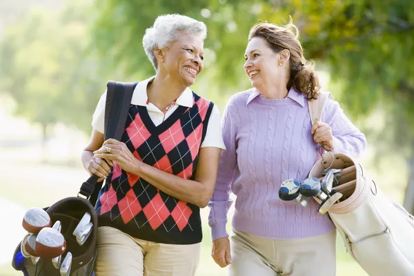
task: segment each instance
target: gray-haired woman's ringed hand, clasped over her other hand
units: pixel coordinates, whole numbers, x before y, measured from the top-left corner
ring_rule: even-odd
[[[141,161],[132,155],[126,144],[115,139],[104,141],[101,148],[93,153],[98,158],[117,162],[126,172],[134,173],[141,165]]]

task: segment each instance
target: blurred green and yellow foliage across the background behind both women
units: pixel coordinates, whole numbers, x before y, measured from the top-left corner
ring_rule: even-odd
[[[5,30],[0,86],[17,99],[20,114],[41,124],[63,121],[90,130],[106,79],[154,73],[142,37],[166,13],[208,26],[205,71],[195,90],[225,103],[230,93],[249,87],[243,55],[250,27],[261,20],[285,23],[291,16],[305,57],[341,84],[340,100],[349,113],[365,116],[384,107],[394,122],[387,126],[395,134],[389,141],[412,155],[412,1],[108,0],[92,8],[94,3],[71,1],[53,14],[34,12]]]

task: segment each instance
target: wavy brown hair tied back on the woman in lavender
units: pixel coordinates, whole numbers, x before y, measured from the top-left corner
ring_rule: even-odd
[[[253,37],[262,37],[275,53],[284,49],[288,50],[290,52],[290,74],[286,88],[289,90],[293,86],[298,92],[304,93],[308,99],[317,99],[320,86],[313,69],[315,64],[304,58],[304,51],[298,39],[299,30],[292,23],[291,18],[290,22],[283,27],[267,22],[258,23],[251,28],[248,41]]]

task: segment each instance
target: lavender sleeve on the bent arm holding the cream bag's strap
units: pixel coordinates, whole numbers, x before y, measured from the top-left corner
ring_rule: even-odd
[[[333,152],[359,157],[366,148],[365,135],[346,117],[337,101],[328,99],[324,112],[322,121],[332,128]]]

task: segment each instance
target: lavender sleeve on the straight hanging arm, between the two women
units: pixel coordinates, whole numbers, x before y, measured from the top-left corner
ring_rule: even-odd
[[[231,114],[235,112],[234,109],[230,99],[221,119],[226,150],[221,153],[215,190],[208,203],[210,207],[208,225],[211,228],[213,241],[221,237],[228,237],[226,231],[227,213],[233,203],[230,199],[230,192],[237,167],[235,117]]]

